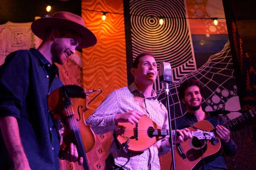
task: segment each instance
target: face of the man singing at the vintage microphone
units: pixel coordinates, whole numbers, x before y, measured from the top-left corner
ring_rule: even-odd
[[[136,84],[153,84],[157,76],[157,64],[154,57],[145,55],[139,59],[138,68],[131,69]]]

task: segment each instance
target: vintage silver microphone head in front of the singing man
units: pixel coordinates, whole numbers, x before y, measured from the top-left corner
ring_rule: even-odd
[[[171,64],[162,61],[159,66],[159,80],[160,83],[172,82],[172,68]]]

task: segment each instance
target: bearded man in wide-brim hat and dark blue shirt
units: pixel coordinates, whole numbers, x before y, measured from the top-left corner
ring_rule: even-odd
[[[47,105],[48,94],[63,85],[54,63],[97,42],[84,20],[69,12],[35,20],[31,29],[42,39],[38,49],[10,53],[0,66],[0,169],[59,169],[59,140]],[[75,145],[65,158],[79,159]]]

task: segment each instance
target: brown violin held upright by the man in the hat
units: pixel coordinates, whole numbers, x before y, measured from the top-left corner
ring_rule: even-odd
[[[54,90],[47,101],[53,118],[60,119],[64,125],[60,153],[74,143],[78,156],[84,159],[84,169],[89,170],[86,152],[94,147],[95,135],[85,123],[85,111],[88,110],[86,90],[77,85],[62,86]]]

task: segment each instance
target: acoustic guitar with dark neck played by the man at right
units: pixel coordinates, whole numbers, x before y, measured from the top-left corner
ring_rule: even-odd
[[[232,130],[238,124],[251,119],[255,115],[256,112],[253,109],[228,121],[223,126]],[[194,127],[210,132],[216,131],[208,121],[199,121],[188,129],[195,131],[196,129]],[[222,146],[218,136],[212,137],[210,140],[198,140],[193,137],[192,139],[175,145],[174,158],[176,170],[196,170],[203,165],[203,161],[205,163],[210,162],[220,156],[220,154],[222,154]]]

